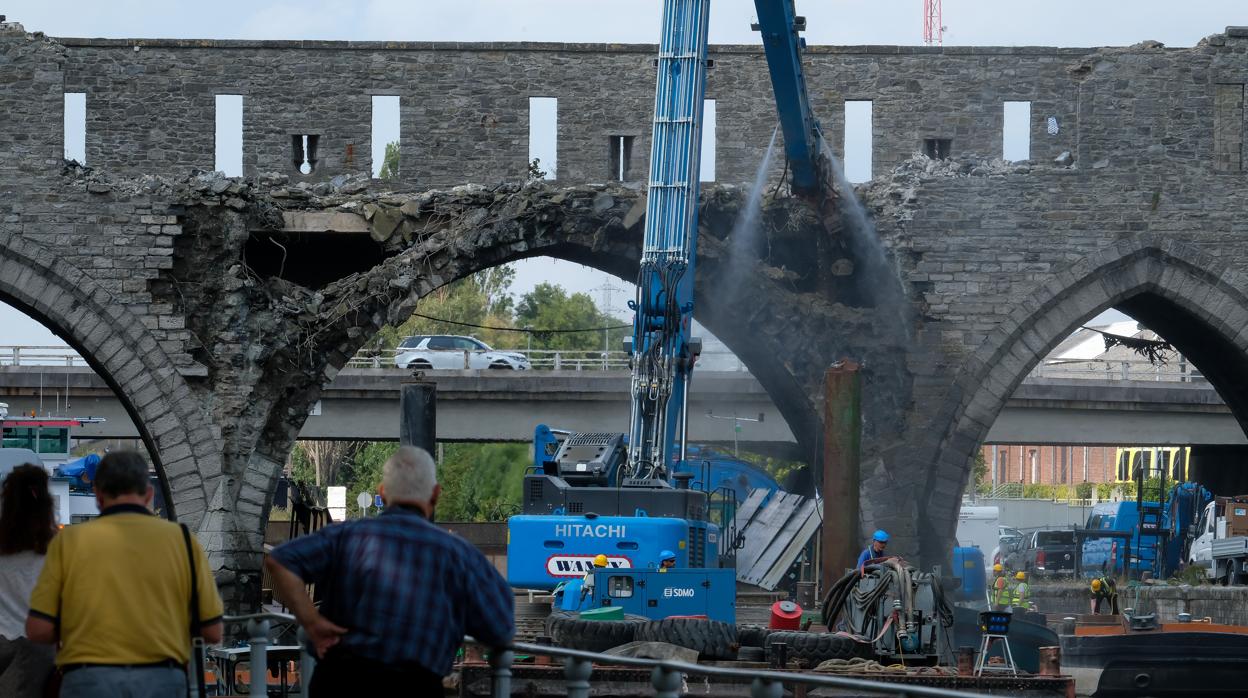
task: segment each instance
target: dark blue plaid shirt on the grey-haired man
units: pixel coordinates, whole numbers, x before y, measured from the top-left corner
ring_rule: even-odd
[[[418,511],[329,526],[271,553],[323,592],[321,614],[347,628],[339,647],[439,676],[466,633],[505,647],[515,633],[512,591],[485,556]]]

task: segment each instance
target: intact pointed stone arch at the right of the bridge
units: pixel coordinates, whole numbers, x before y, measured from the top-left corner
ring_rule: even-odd
[[[1006,400],[1058,342],[1111,307],[1174,343],[1248,425],[1248,277],[1183,242],[1121,241],[1055,275],[967,357],[932,422],[932,441],[919,450],[935,463],[919,512],[925,559],[943,556],[972,455]]]

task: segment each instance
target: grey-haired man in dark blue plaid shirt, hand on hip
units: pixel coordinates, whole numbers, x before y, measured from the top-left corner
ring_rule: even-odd
[[[273,549],[273,593],[321,661],[310,692],[441,696],[464,633],[507,647],[512,591],[485,556],[433,523],[441,487],[428,452],[401,447],[382,469],[381,516],[328,526]],[[321,609],[305,584],[322,591]]]

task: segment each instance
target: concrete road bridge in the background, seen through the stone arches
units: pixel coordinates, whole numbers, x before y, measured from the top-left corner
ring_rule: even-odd
[[[322,392],[300,438],[398,440],[397,368],[346,368]],[[610,371],[431,371],[438,386],[442,441],[529,441],[535,420],[578,431],[615,431],[626,423],[629,373]],[[40,395],[42,397],[40,398]],[[64,407],[66,396],[70,407]],[[109,386],[86,367],[0,367],[0,402],[12,412],[105,417],[77,431],[84,438],[136,438],[139,431]],[[745,372],[703,371],[690,393],[690,438],[733,443],[734,413],[746,450],[797,460],[792,431],[766,391]],[[623,421],[622,421],[623,420]],[[986,443],[1068,446],[1248,445],[1231,410],[1209,383],[1087,378],[1028,378],[1006,402]]]

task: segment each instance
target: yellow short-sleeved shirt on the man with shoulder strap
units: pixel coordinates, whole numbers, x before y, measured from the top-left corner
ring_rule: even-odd
[[[207,556],[192,536],[200,618],[221,618]],[[191,568],[181,528],[136,504],[67,526],[52,538],[30,612],[57,622],[56,663],[186,663],[191,653]]]

